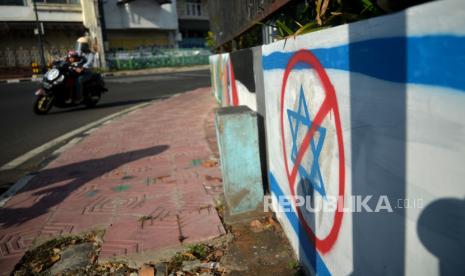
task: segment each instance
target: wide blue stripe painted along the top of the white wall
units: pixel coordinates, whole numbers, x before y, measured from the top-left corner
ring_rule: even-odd
[[[433,35],[364,40],[310,49],[325,68],[465,91],[465,37]],[[263,56],[263,69],[284,69],[293,52]],[[308,68],[298,64],[296,69]]]

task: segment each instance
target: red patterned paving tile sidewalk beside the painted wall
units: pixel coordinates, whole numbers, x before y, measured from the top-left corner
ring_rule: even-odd
[[[0,209],[2,274],[37,240],[95,228],[106,229],[101,259],[225,233],[213,200],[222,191],[211,162],[215,106],[210,89],[197,89],[116,119],[63,152]]]

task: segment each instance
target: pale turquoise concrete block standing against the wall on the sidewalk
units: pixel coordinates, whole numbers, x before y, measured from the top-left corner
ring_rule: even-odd
[[[215,123],[229,215],[257,210],[263,201],[257,113],[224,107],[216,111]]]

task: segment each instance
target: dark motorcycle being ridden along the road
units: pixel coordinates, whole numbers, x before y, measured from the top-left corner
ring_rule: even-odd
[[[75,107],[84,104],[94,107],[102,94],[108,90],[100,74],[93,73],[92,78],[84,83],[81,103],[70,102],[70,96],[76,87],[77,73],[73,65],[66,61],[55,61],[42,79],[41,87],[35,92],[33,110],[38,115],[46,114],[53,106],[59,108]]]

